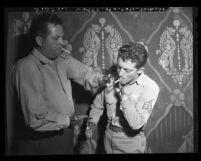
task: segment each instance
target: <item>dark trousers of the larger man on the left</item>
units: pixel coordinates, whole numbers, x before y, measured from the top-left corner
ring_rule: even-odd
[[[17,155],[73,154],[73,129],[36,134],[33,139],[17,140]]]

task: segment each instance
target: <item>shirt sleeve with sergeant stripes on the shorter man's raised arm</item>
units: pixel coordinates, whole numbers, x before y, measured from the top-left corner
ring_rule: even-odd
[[[159,93],[159,87],[148,87],[143,91],[137,101],[131,96],[133,105],[129,107],[121,107],[124,117],[133,129],[139,129],[146,124]]]

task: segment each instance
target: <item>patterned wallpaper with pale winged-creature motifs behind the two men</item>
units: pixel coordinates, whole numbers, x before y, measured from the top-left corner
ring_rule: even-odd
[[[115,63],[119,47],[128,41],[142,41],[147,45],[149,59],[145,73],[160,86],[158,100],[146,125],[147,152],[194,152],[193,9],[57,13],[64,22],[65,38],[73,47],[72,55],[95,69],[105,70]],[[14,39],[16,48],[15,38],[28,32],[33,14],[9,14],[8,40]],[[16,54],[16,50],[8,50],[8,65],[16,61]],[[83,100],[75,98],[81,114],[87,112],[92,99],[84,97]],[[78,126],[75,137],[80,129]]]

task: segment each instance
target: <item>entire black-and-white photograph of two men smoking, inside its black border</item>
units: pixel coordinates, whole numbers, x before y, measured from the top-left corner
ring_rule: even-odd
[[[5,155],[197,153],[197,10],[5,8]]]

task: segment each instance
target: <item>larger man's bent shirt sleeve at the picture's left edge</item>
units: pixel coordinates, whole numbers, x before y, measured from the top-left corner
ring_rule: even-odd
[[[13,85],[27,126],[36,131],[52,131],[67,127],[69,117],[53,111],[44,93],[44,82],[33,61],[18,64],[12,72]]]

